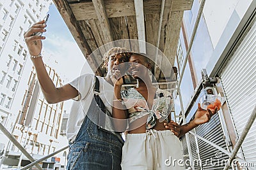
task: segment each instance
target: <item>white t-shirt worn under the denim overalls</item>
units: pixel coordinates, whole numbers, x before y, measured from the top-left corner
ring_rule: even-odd
[[[113,102],[113,86],[108,83],[104,78],[97,76],[99,79],[99,96],[106,106],[106,110],[112,113]],[[72,87],[76,88],[79,96],[74,98],[71,106],[70,115],[67,122],[67,138],[68,141],[73,142],[76,139],[77,133],[83,124],[84,117],[89,110],[92,103],[95,86],[95,75],[84,74],[69,83]]]

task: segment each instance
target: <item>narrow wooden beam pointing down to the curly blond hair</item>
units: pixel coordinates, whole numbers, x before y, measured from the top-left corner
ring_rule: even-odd
[[[104,38],[109,43],[113,41],[113,36],[111,33],[108,15],[106,13],[105,5],[103,0],[92,0],[93,6],[95,8],[95,12],[97,15],[97,18],[100,23],[100,27],[103,31]]]

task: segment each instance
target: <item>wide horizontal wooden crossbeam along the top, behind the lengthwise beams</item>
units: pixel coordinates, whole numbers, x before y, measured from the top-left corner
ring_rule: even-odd
[[[134,0],[105,0],[106,15],[108,18],[125,17],[135,15]],[[193,0],[173,0],[172,11],[191,10]],[[166,8],[171,8],[166,3]],[[160,13],[161,0],[144,0],[144,14]],[[97,18],[93,3],[90,1],[70,4],[77,20],[90,20]]]

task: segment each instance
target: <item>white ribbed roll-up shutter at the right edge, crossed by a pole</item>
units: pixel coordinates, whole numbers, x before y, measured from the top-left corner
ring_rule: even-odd
[[[223,69],[221,81],[237,136],[240,137],[256,105],[256,22]],[[255,122],[241,148],[244,159],[256,163]]]

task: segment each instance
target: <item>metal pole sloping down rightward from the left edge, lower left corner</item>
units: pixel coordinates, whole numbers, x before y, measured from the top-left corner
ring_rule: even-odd
[[[33,157],[31,157],[31,155],[22,147],[22,145],[20,145],[20,143],[15,138],[13,138],[12,134],[10,134],[10,132],[7,131],[7,129],[1,123],[0,123],[0,130],[4,133],[4,135],[8,139],[10,139],[10,141],[12,141],[12,143],[15,146],[17,146],[17,148],[19,148],[20,152],[22,152],[31,162],[35,161],[35,159],[33,159]],[[40,167],[38,164],[36,164],[36,167],[40,170],[43,170],[42,167]]]

